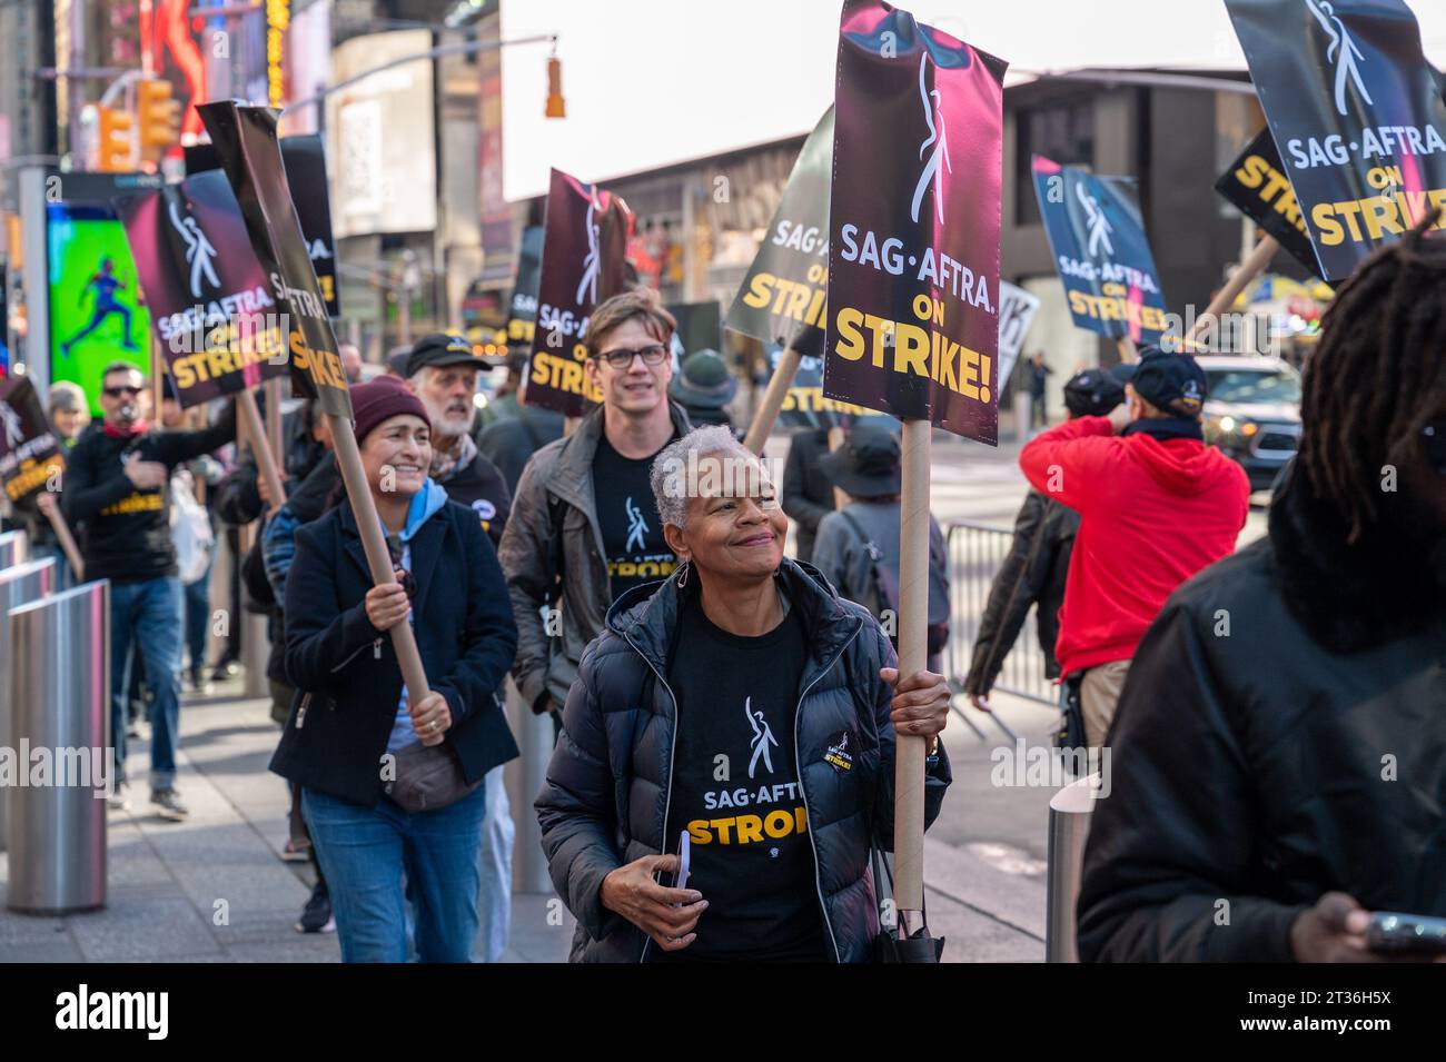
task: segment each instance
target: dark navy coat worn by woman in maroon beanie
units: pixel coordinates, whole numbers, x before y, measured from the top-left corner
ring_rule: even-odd
[[[469,782],[518,756],[497,689],[518,629],[492,543],[473,510],[448,501],[412,539],[416,644],[447,698]],[[382,754],[402,695],[392,639],[366,617],[370,569],[351,506],[296,532],[286,575],[286,675],[299,692],[270,769],[364,806],[382,799]]]

